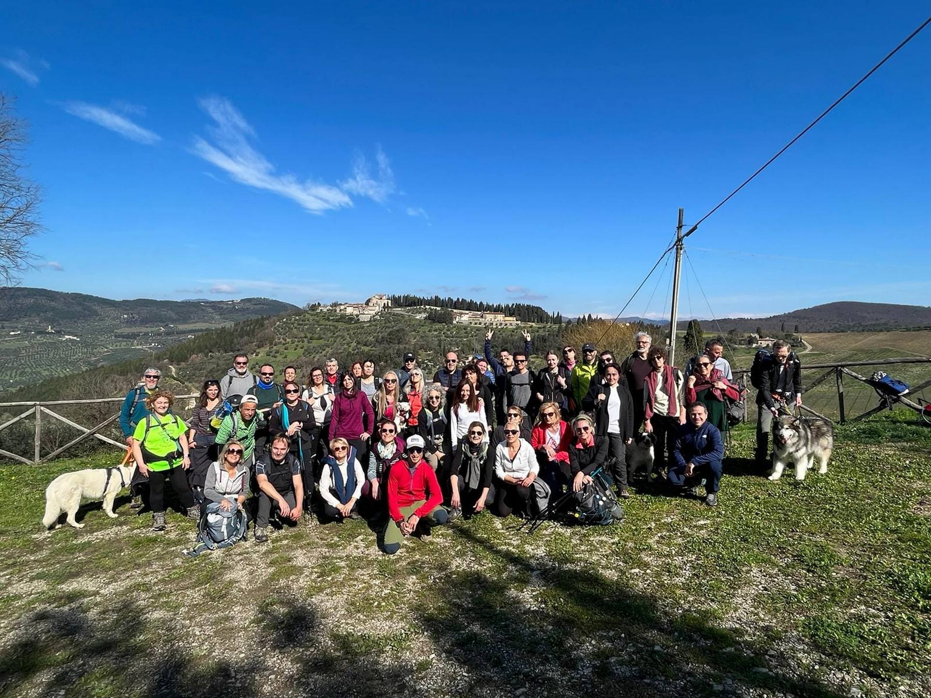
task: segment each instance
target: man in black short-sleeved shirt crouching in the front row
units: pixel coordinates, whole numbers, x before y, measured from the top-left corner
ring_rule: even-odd
[[[282,518],[298,521],[304,503],[304,481],[301,479],[301,462],[289,452],[288,436],[278,434],[272,438],[272,448],[265,451],[255,463],[255,476],[259,481],[259,513],[255,517],[255,540],[268,540],[268,517],[272,506],[277,506]]]

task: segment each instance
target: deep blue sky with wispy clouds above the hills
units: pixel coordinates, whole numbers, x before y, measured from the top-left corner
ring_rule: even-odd
[[[0,89],[45,265],[113,298],[620,310],[924,2],[33,2]],[[926,304],[931,29],[689,238],[684,315]],[[669,267],[626,315],[666,315]],[[695,274],[692,269],[694,268]],[[696,279],[697,276],[697,279]]]

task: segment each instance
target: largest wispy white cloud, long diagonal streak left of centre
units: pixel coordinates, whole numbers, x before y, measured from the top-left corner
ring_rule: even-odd
[[[338,187],[277,174],[275,166],[251,146],[255,131],[229,100],[208,97],[200,101],[200,107],[213,119],[208,128],[213,142],[196,137],[194,153],[233,180],[289,198],[311,213],[352,206],[352,199]]]

